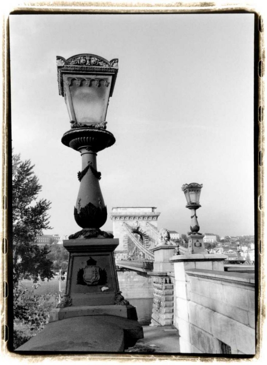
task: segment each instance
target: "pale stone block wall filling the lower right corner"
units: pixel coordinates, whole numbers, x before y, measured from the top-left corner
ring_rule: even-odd
[[[181,336],[181,352],[254,354],[251,274],[190,267],[180,274],[184,278],[176,281],[174,325]]]

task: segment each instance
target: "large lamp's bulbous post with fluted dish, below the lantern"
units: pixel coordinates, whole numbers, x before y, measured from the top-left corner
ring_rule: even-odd
[[[82,228],[69,238],[113,238],[101,231],[107,220],[107,207],[100,189],[101,173],[97,171],[97,152],[112,146],[115,138],[103,128],[71,128],[62,137],[62,143],[79,151],[82,156],[82,170],[78,172],[80,188],[74,207],[74,218]]]

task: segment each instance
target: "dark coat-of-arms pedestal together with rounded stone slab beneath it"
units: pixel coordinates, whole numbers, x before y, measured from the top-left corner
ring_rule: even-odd
[[[69,239],[64,298],[50,312],[50,323],[16,351],[123,352],[143,338],[136,308],[118,284],[114,249],[118,239]]]

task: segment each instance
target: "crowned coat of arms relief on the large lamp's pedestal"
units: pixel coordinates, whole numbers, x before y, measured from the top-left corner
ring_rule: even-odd
[[[77,273],[77,284],[80,285],[102,285],[107,283],[107,273],[96,265],[96,261],[89,257],[87,265]]]

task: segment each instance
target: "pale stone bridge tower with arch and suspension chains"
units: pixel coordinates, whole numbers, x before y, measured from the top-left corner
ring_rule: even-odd
[[[155,246],[158,218],[156,207],[115,207],[110,218],[113,220],[114,238],[119,246],[116,259],[149,259],[150,249]],[[152,254],[153,255],[153,254]]]

